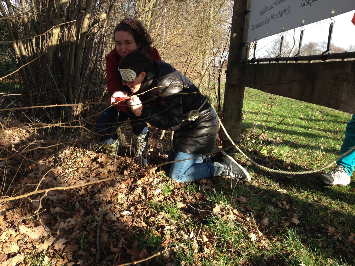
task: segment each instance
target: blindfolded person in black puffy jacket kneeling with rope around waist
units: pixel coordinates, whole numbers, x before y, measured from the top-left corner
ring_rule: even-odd
[[[206,96],[187,77],[166,62],[152,62],[139,50],[120,60],[119,71],[132,92],[128,101],[132,112],[153,127],[173,131],[170,178],[190,182],[223,174],[250,180],[249,173],[225,153],[219,152],[215,162],[202,156],[215,145],[218,120]]]

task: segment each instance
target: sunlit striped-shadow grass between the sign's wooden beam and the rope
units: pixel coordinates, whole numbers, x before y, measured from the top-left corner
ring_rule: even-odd
[[[275,96],[272,105],[273,97],[258,90],[246,90],[242,122],[246,147],[286,162],[306,162],[312,168],[338,156],[350,114],[281,96]],[[263,138],[253,139],[265,127],[272,126]]]

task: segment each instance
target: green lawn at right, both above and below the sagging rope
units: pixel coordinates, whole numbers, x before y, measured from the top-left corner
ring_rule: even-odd
[[[275,96],[272,105],[273,97],[254,89],[245,92],[241,143],[253,160],[270,168],[300,171],[318,169],[337,158],[349,113],[280,96]],[[264,128],[269,129],[262,134]],[[240,154],[232,155],[246,162]],[[223,199],[243,195],[245,205],[259,215],[256,223],[262,217],[268,219],[267,255],[255,253],[252,245],[246,246],[244,254],[255,262],[275,265],[351,265],[355,261],[354,181],[349,186],[329,187],[318,180],[318,173],[293,176],[252,165],[246,168],[252,175],[250,184],[225,189],[220,181],[215,189],[218,195],[209,195],[212,201],[225,204],[231,200]],[[229,232],[228,228],[236,227],[218,219],[214,217],[209,226],[215,223],[219,228],[221,245],[248,240]]]

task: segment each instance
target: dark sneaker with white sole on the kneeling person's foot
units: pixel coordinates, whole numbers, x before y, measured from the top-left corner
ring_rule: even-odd
[[[224,166],[223,176],[230,178],[245,178],[248,181],[251,180],[250,174],[245,168],[224,151],[219,151],[215,156],[219,159],[219,163]]]

